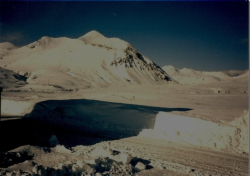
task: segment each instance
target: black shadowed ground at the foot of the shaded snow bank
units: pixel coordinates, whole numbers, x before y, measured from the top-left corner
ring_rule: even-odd
[[[49,147],[49,138],[56,135],[60,144],[67,147],[76,145],[93,145],[95,143],[117,138],[67,130],[51,124],[27,119],[1,121],[0,152],[6,152],[22,145]]]

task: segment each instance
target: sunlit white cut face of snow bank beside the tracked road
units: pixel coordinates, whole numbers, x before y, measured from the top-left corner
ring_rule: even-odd
[[[144,129],[139,136],[175,140],[198,147],[232,153],[249,153],[249,112],[230,123],[217,124],[193,117],[159,112],[154,129]]]

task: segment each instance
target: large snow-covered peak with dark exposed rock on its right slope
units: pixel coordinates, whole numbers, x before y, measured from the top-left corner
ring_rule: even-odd
[[[171,81],[164,70],[128,42],[106,38],[97,31],[78,39],[42,37],[3,52],[0,67],[25,76],[26,87],[68,89]]]

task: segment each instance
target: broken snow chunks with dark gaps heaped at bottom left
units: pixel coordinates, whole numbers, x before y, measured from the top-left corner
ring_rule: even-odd
[[[106,145],[106,146],[105,146]],[[1,154],[1,175],[134,175],[146,166],[109,143],[66,149],[22,146]],[[132,161],[133,160],[133,161]],[[133,163],[133,164],[132,164]],[[139,167],[138,167],[139,163]],[[135,166],[136,165],[136,166]],[[6,168],[6,169],[5,169]],[[143,168],[143,169],[142,169]]]

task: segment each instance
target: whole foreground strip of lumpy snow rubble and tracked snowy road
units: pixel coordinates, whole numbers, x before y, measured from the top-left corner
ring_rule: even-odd
[[[213,161],[213,162],[211,162]],[[2,153],[0,175],[247,175],[248,157],[141,137]]]

